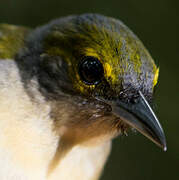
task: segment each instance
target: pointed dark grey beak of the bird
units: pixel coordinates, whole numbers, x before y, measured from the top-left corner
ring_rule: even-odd
[[[131,127],[137,129],[155,144],[167,150],[163,129],[144,95],[139,91],[138,100],[134,103],[124,103],[117,100],[112,105],[113,113],[119,116]]]

